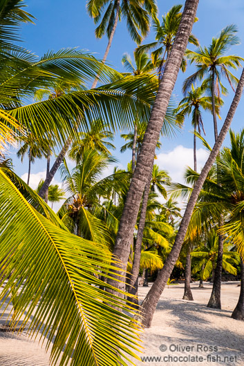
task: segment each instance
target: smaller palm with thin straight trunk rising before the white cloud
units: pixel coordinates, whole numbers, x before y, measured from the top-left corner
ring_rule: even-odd
[[[196,171],[196,130],[198,129],[199,134],[201,131],[205,134],[202,110],[212,112],[212,97],[204,96],[204,93],[205,87],[194,88],[194,85],[191,84],[191,90],[187,93],[187,97],[183,98],[178,108],[176,108],[177,117],[180,121],[191,114],[191,125],[194,126],[194,171]],[[217,97],[215,102],[215,111],[219,117],[220,105],[223,102],[222,99]]]

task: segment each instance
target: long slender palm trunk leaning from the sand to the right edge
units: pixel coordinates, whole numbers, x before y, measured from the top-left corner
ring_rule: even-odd
[[[209,154],[207,162],[205,163],[205,166],[203,167],[203,170],[201,171],[201,173],[198,177],[198,180],[197,180],[196,184],[194,185],[194,189],[191,193],[191,197],[189,198],[189,201],[187,204],[187,209],[185,210],[185,215],[183,216],[182,221],[180,223],[180,228],[176,235],[176,240],[173,244],[171,252],[169,253],[169,256],[167,257],[167,260],[165,261],[164,267],[162,267],[162,269],[160,270],[160,273],[159,273],[158,277],[156,278],[156,281],[153,283],[153,286],[151,287],[149,293],[147,293],[147,296],[144,299],[144,302],[142,303],[142,313],[144,313],[144,318],[142,319],[142,323],[143,323],[144,327],[151,326],[151,320],[153,318],[153,314],[154,314],[154,311],[158,304],[160,295],[161,295],[162,291],[165,289],[167,280],[168,280],[169,276],[171,275],[173,267],[176,264],[176,260],[178,259],[178,256],[180,254],[182,242],[185,238],[185,234],[187,233],[187,228],[188,228],[189,222],[191,220],[191,214],[194,210],[194,206],[198,199],[198,195],[200,193],[200,190],[203,187],[203,183],[205,182],[205,179],[207,178],[207,174],[209,173],[209,170],[212,167],[212,164],[214,164],[214,161],[216,160],[218,152],[220,151],[220,147],[224,142],[225,136],[227,135],[227,131],[229,130],[229,126],[232,123],[232,119],[234,117],[234,113],[236,112],[238,103],[241,100],[241,95],[243,93],[243,86],[244,86],[244,70],[241,74],[241,79],[236,88],[236,93],[234,95],[232,104],[229,108],[229,112],[225,119],[225,123],[223,124],[220,134],[218,135],[218,139],[217,139],[216,143],[214,144],[214,148],[212,149],[211,153]]]

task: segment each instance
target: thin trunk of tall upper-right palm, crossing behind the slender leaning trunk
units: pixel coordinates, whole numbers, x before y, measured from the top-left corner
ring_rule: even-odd
[[[216,111],[215,111],[215,91],[214,91],[214,84],[215,84],[215,73],[214,69],[212,70],[212,110],[213,110],[213,117],[214,117],[214,137],[215,141],[218,138],[218,126],[217,126],[217,119],[216,119]],[[218,166],[217,166],[217,182],[218,182]],[[223,225],[223,216],[220,218],[219,226]],[[209,298],[209,302],[207,307],[211,307],[213,309],[221,309],[221,278],[222,278],[222,268],[223,268],[223,235],[218,234],[218,257],[217,257],[217,264],[216,269],[214,271],[214,282],[212,293]]]

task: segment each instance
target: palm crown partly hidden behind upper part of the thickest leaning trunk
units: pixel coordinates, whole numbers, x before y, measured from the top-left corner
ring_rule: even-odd
[[[151,42],[150,44],[144,44],[142,46],[138,46],[135,50],[136,54],[141,52],[151,52],[151,59],[153,65],[159,66],[159,77],[162,77],[162,69],[165,65],[165,61],[167,61],[169,57],[169,52],[171,47],[173,46],[173,42],[176,39],[176,33],[178,31],[181,17],[182,17],[182,5],[173,6],[167,14],[162,15],[162,23],[160,24],[160,20],[153,15],[153,30],[156,32],[155,39],[156,41]],[[197,19],[195,19],[196,21]],[[198,46],[198,39],[194,35],[189,36],[189,43]],[[162,56],[162,59],[160,57]],[[185,71],[186,63],[185,59],[182,60],[181,68]]]

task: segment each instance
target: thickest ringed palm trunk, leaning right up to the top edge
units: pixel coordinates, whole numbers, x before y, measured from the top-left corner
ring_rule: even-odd
[[[117,257],[122,264],[121,271],[114,271],[114,278],[109,278],[109,285],[113,285],[119,289],[124,289],[123,282],[118,282],[126,271],[126,263],[130,253],[130,239],[135,228],[140,201],[144,192],[144,187],[149,181],[151,175],[151,166],[154,160],[156,144],[160,136],[162,124],[165,119],[169,99],[176,84],[182,58],[185,55],[189,35],[196,17],[199,0],[187,0],[185,9],[182,13],[182,19],[176,35],[176,39],[171,48],[169,59],[165,66],[165,71],[162,75],[162,80],[158,88],[158,95],[153,105],[151,117],[147,125],[147,130],[144,134],[140,154],[135,166],[129,191],[126,196],[120,227],[115,241],[113,255]]]

